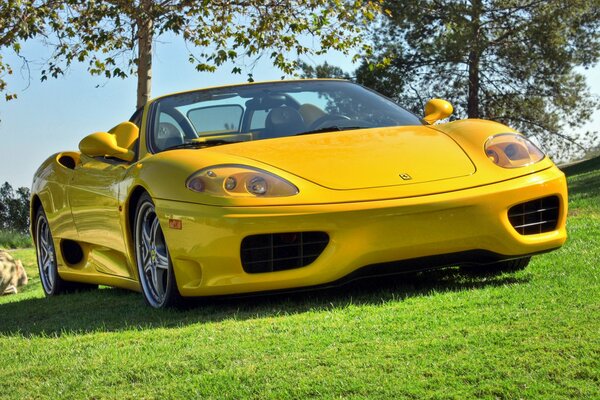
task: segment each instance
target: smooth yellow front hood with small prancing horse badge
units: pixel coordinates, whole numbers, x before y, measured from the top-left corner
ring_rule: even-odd
[[[427,126],[328,132],[211,150],[259,161],[336,190],[411,185],[475,172],[454,140]]]

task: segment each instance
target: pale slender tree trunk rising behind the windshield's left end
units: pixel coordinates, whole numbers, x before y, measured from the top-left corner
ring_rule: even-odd
[[[154,21],[150,16],[151,1],[144,1],[143,17],[137,20],[138,25],[138,90],[136,108],[143,107],[150,99],[152,91],[152,39]]]

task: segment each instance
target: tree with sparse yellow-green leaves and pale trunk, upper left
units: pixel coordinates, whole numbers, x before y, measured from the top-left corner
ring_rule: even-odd
[[[165,33],[185,40],[198,71],[234,62],[232,72],[241,73],[240,63],[268,57],[288,74],[301,55],[356,48],[368,53],[362,27],[376,17],[382,1],[9,1],[0,5],[0,33],[9,33],[0,51],[8,46],[18,53],[22,40],[39,36],[54,49],[42,80],[63,74],[74,62],[107,78],[137,75],[140,107],[150,96],[153,44]],[[2,77],[11,69],[1,62],[5,91]]]

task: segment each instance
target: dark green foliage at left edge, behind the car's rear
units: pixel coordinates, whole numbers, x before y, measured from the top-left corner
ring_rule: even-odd
[[[27,233],[29,229],[29,196],[26,187],[16,191],[8,183],[0,186],[0,229]]]

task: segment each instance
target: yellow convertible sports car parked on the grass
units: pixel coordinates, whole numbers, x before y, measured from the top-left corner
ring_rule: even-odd
[[[484,120],[435,124],[347,81],[157,98],[34,176],[44,291],[181,297],[326,286],[452,265],[524,268],[566,239],[565,177]]]

